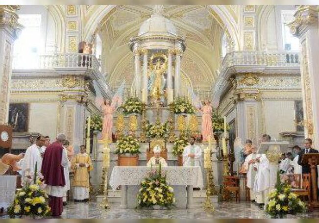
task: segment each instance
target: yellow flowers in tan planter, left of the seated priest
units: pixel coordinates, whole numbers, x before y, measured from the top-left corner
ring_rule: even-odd
[[[124,136],[118,140],[115,154],[118,154],[119,166],[138,166],[140,144],[133,136]]]

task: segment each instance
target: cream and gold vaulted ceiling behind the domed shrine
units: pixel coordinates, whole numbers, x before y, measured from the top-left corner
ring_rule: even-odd
[[[133,53],[128,43],[152,11],[153,5],[118,5],[100,22],[102,69],[112,88],[117,88],[123,79],[128,84],[133,81]],[[203,5],[165,5],[163,15],[186,39],[187,49],[181,63],[183,79],[194,88],[209,89],[219,68],[223,34],[214,12]]]

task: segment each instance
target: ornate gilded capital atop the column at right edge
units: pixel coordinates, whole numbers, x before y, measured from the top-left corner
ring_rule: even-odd
[[[297,37],[303,35],[309,27],[318,26],[316,5],[301,5],[294,13],[294,21],[288,24],[290,32]]]

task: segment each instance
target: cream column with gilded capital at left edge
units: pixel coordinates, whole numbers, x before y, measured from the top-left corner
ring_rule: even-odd
[[[22,29],[18,9],[17,5],[0,5],[0,124],[8,122],[13,42]]]

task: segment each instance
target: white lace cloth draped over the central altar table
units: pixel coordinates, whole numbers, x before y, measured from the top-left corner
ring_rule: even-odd
[[[109,181],[113,190],[120,185],[140,185],[150,167],[116,166]],[[203,188],[203,177],[200,167],[163,167],[168,185],[193,185]]]

